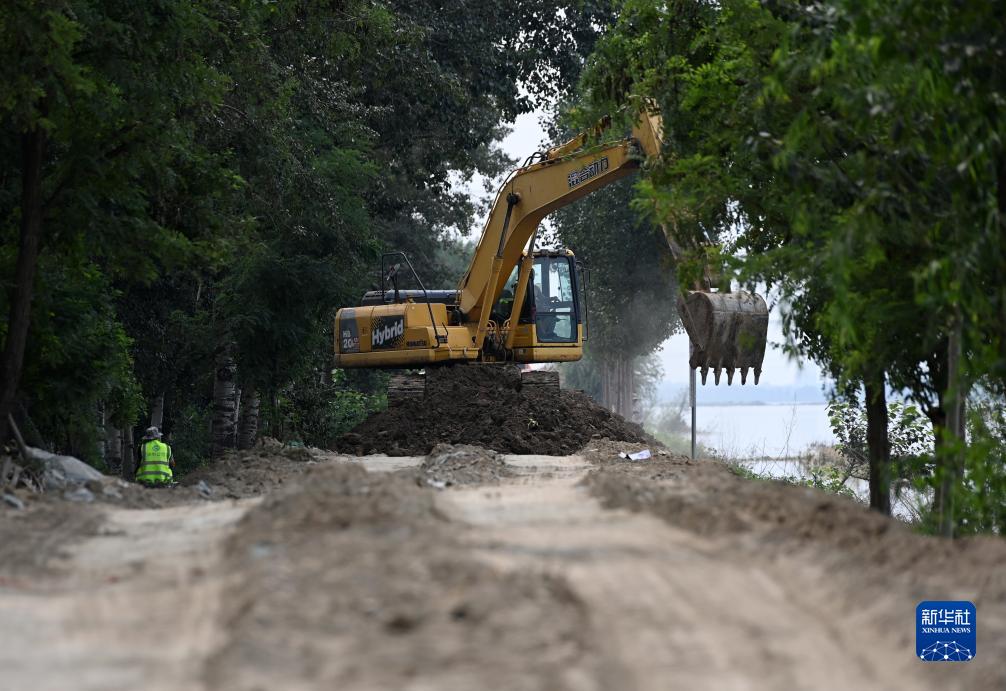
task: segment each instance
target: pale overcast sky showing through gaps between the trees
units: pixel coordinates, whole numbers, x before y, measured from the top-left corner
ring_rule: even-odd
[[[544,133],[538,123],[539,117],[538,113],[528,113],[517,118],[512,126],[513,131],[502,142],[502,148],[507,154],[522,162],[540,148]],[[481,183],[472,186],[472,189],[477,191],[481,191]],[[481,231],[481,227],[477,229],[478,231]],[[668,299],[674,298],[668,296]],[[766,349],[762,383],[774,386],[819,386],[822,376],[817,365],[809,361],[800,363],[792,360],[779,347],[773,346],[782,342],[782,318],[778,309],[773,309],[769,319],[769,347]],[[658,351],[658,356],[663,363],[666,380],[673,384],[687,384],[688,337],[685,334],[676,334],[665,341]],[[708,381],[708,385],[711,386],[712,378],[710,377]],[[725,379],[722,381],[725,383]],[[734,382],[737,381],[739,379],[734,379]]]

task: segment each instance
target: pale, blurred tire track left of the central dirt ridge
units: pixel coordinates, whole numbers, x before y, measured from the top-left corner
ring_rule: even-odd
[[[0,687],[203,688],[199,661],[221,644],[222,545],[257,501],[110,510],[57,572],[0,588]]]

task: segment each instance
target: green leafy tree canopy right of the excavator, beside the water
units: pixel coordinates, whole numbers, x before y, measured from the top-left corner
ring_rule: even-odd
[[[678,232],[735,234],[737,277],[787,298],[790,348],[868,389],[879,510],[886,386],[906,389],[939,427],[945,401],[967,388],[949,344],[963,341],[979,372],[1000,366],[990,12],[630,1],[585,80],[596,107],[655,99],[664,113],[670,154],[641,205]],[[949,46],[975,59],[964,66]],[[957,108],[962,93],[974,110]],[[960,428],[948,426],[938,436],[952,449]]]

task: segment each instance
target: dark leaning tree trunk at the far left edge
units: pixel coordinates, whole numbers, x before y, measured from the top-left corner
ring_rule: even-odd
[[[11,412],[21,381],[24,348],[28,340],[31,296],[38,266],[42,234],[42,159],[45,132],[36,127],[21,135],[21,236],[14,269],[14,292],[10,299],[7,340],[0,362],[0,442],[7,439],[7,415]]]

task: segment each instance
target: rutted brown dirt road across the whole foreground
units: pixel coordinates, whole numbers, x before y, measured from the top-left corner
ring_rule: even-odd
[[[596,446],[503,477],[331,456],[261,500],[7,513],[6,544],[46,546],[0,547],[0,688],[1006,686],[1001,541]],[[976,602],[974,661],[915,660],[924,598]]]

